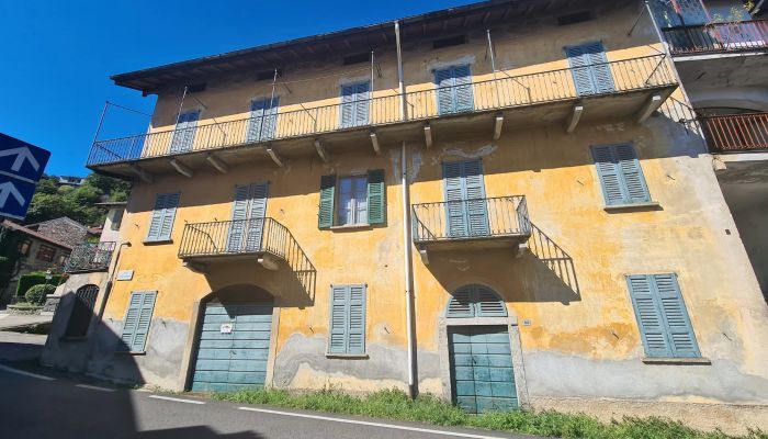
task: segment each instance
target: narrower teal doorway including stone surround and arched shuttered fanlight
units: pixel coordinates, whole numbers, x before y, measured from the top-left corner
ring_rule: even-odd
[[[458,289],[441,326],[454,404],[470,413],[524,405],[517,322],[496,292],[478,284]]]

